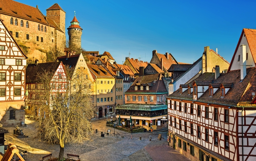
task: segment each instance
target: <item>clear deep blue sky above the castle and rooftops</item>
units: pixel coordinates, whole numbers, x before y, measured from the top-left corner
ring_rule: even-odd
[[[75,11],[83,29],[82,48],[100,54],[108,51],[119,64],[129,51],[130,58],[149,62],[153,50],[193,63],[205,46],[218,48],[218,54],[230,62],[242,29],[256,29],[255,0],[17,1],[38,5],[44,15],[58,3],[66,12],[66,28]]]

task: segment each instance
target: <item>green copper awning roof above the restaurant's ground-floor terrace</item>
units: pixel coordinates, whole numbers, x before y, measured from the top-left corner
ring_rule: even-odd
[[[115,107],[117,110],[140,110],[140,111],[156,111],[165,110],[167,105],[137,105],[137,104],[126,104],[118,105]]]

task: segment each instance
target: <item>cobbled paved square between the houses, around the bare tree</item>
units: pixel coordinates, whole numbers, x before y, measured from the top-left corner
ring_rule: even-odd
[[[28,138],[16,138],[13,136],[15,127],[4,127],[9,131],[6,134],[5,145],[13,143],[21,151],[27,151],[26,161],[36,161],[47,154],[52,153],[53,157],[59,155],[59,145],[49,145],[38,139],[35,139],[36,130],[35,123],[26,119],[27,127],[20,127]],[[186,161],[186,157],[168,146],[167,132],[141,132],[132,133],[123,132],[115,129],[120,133],[120,137],[112,137],[105,135],[101,137],[101,132],[111,133],[114,128],[106,126],[106,118],[92,120],[94,131],[97,129],[90,140],[82,144],[66,144],[66,154],[80,155],[81,161]],[[158,134],[162,134],[163,139],[158,140]],[[121,136],[124,136],[122,138]],[[152,136],[152,140],[149,140]],[[140,140],[140,137],[142,139]]]

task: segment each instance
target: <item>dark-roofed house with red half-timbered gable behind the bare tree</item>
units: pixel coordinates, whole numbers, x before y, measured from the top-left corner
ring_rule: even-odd
[[[36,102],[41,102],[41,95],[46,92],[45,84],[41,83],[42,78],[40,78],[40,75],[46,76],[45,73],[47,72],[52,72],[54,74],[50,80],[48,88],[48,92],[50,92],[49,97],[51,98],[49,98],[49,101],[45,103],[50,104],[50,100],[58,97],[56,96],[57,94],[64,95],[66,93],[68,83],[63,63],[61,61],[38,63],[38,60],[35,60],[35,64],[28,64],[26,68],[26,89],[28,94],[27,98],[28,100],[32,100],[28,101],[28,109],[26,110],[26,113],[31,113],[35,116],[40,114],[40,107]]]

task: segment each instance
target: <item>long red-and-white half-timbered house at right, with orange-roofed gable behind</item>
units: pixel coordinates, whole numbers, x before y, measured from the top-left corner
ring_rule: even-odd
[[[167,97],[169,146],[200,161],[256,160],[256,30],[243,29],[229,71]]]

